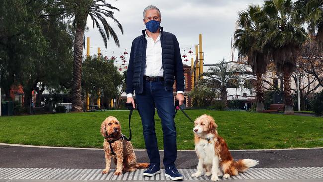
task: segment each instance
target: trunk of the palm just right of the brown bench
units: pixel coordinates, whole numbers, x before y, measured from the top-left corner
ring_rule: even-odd
[[[294,115],[290,72],[288,68],[284,68],[283,71],[284,71],[285,114]]]

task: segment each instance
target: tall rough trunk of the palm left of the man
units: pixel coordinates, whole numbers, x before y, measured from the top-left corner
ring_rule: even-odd
[[[73,45],[72,111],[83,112],[81,102],[82,56],[84,27],[77,25]]]

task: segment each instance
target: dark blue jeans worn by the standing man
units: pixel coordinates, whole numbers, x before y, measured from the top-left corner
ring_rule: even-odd
[[[136,94],[136,102],[143,124],[143,135],[150,163],[160,164],[154,120],[156,107],[157,114],[161,118],[163,131],[163,163],[165,167],[175,166],[177,144],[173,92],[167,91],[161,81],[144,81],[143,93]]]

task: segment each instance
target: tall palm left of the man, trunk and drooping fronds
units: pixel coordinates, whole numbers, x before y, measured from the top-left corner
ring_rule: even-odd
[[[105,3],[105,0],[61,0],[61,3],[67,11],[67,16],[71,18],[74,17],[73,25],[75,26],[75,38],[73,45],[72,110],[81,112],[82,56],[87,17],[89,16],[92,19],[93,28],[94,26],[98,28],[105,47],[107,47],[107,41],[110,40],[110,37],[113,37],[117,46],[120,45],[116,32],[112,29],[106,19],[112,19],[118,25],[122,34],[123,28],[114,17],[113,11],[111,11],[119,11],[119,9],[113,7],[111,4]]]

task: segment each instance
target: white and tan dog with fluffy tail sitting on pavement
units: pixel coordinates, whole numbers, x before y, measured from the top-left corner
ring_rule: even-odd
[[[218,176],[224,174],[223,178],[229,178],[259,163],[253,159],[234,161],[226,142],[218,135],[217,127],[214,119],[206,114],[194,121],[195,151],[199,162],[197,172],[192,177],[201,176],[206,169],[205,175],[212,175],[211,181],[217,181]]]

